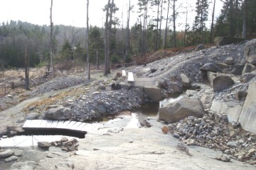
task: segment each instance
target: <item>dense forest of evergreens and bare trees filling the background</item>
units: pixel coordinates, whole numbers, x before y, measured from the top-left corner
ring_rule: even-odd
[[[58,67],[67,67],[75,62],[85,67],[87,57],[86,45],[89,45],[90,63],[95,66],[104,64],[106,35],[109,35],[110,62],[132,62],[132,56],[173,47],[186,47],[198,44],[211,44],[216,36],[256,38],[256,1],[255,0],[223,0],[220,16],[215,19],[209,13],[208,1],[198,0],[196,3],[193,25],[184,21],[185,30],[176,30],[177,0],[138,0],[138,21],[129,26],[120,26],[119,18],[114,16],[119,10],[112,0],[105,6],[106,15],[111,18],[105,26],[90,26],[88,41],[86,28],[73,26],[53,26],[53,56]],[[156,7],[156,15],[148,16],[151,6]],[[162,16],[163,6],[169,10]],[[166,7],[168,6],[168,7]],[[184,14],[189,15],[189,6]],[[129,13],[132,6],[129,6]],[[214,9],[213,9],[214,11]],[[108,14],[107,14],[108,13]],[[90,17],[90,16],[89,16]],[[206,21],[214,21],[210,28]],[[161,28],[166,23],[165,28]],[[246,32],[242,35],[243,31]],[[106,31],[107,30],[107,31]],[[28,55],[29,67],[41,67],[50,64],[50,26],[38,26],[21,21],[9,21],[0,26],[0,62],[1,69],[25,67],[25,54]]]

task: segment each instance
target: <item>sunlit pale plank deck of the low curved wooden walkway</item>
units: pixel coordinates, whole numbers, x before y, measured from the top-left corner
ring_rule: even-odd
[[[100,123],[82,123],[70,120],[26,120],[22,128],[24,130],[71,130],[87,133],[97,130],[101,126]]]

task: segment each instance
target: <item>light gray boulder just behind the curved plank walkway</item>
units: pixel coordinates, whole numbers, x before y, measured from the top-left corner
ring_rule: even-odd
[[[49,120],[69,120],[71,117],[70,109],[63,106],[49,108],[45,113],[45,117]]]

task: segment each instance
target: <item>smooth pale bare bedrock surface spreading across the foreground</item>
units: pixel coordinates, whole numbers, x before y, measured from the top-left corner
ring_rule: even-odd
[[[235,159],[215,159],[222,152],[213,149],[188,146],[188,155],[177,149],[178,140],[161,132],[164,123],[153,118],[151,128],[126,128],[130,120],[119,118],[90,132],[75,152],[25,152],[10,169],[255,169]]]

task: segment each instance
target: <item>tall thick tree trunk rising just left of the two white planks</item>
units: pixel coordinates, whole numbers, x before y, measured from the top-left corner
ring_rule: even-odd
[[[107,76],[108,74],[108,68],[107,68],[107,59],[108,59],[108,40],[109,40],[109,35],[108,35],[108,27],[109,27],[109,23],[108,23],[108,18],[109,18],[109,15],[110,15],[110,0],[108,0],[108,3],[107,3],[107,13],[106,13],[106,22],[105,22],[105,59],[104,59],[104,64],[105,64],[105,72],[104,72],[104,75]]]

